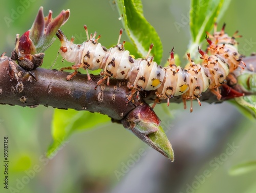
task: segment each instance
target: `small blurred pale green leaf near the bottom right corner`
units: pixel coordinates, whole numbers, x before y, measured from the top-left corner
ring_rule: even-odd
[[[229,174],[232,176],[238,176],[238,175],[246,174],[253,170],[256,170],[256,161],[250,161],[250,162],[233,166],[229,170]]]

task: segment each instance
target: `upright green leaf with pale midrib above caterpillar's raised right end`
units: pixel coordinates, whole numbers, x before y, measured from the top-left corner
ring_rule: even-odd
[[[191,44],[188,52],[191,57],[195,57],[195,50],[204,40],[206,31],[211,31],[217,21],[218,15],[223,15],[227,9],[230,0],[192,0],[190,8],[190,33]],[[220,17],[219,17],[220,18]],[[218,18],[218,19],[219,19]]]

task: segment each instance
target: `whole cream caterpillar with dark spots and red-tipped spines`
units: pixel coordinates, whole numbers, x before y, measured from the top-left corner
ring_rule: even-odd
[[[220,32],[217,32],[217,24],[215,24],[213,35],[206,32],[209,46],[206,52],[198,48],[202,62],[196,64],[190,58],[190,54],[187,53],[188,65],[184,69],[175,64],[174,48],[168,59],[169,66],[161,67],[153,61],[154,57],[150,56],[153,44],[151,44],[145,58],[134,59],[129,51],[124,50],[125,41],[120,43],[122,29],[119,32],[117,45],[110,49],[106,49],[98,42],[100,35],[96,38],[97,33],[95,32],[89,37],[87,26],[84,26],[84,29],[87,40],[79,45],[74,44],[74,37],[69,41],[61,30],[56,33],[61,42],[59,53],[63,59],[74,63],[72,67],[61,69],[74,70],[71,75],[67,76],[67,80],[75,76],[79,68],[87,70],[89,80],[91,78],[88,69],[102,69],[103,78],[97,82],[97,85],[100,85],[104,80],[109,85],[110,77],[127,79],[129,80],[127,85],[132,90],[128,100],[131,100],[136,92],[138,97],[139,91],[155,90],[157,98],[153,108],[157,102],[166,99],[169,106],[170,98],[182,95],[184,108],[186,109],[186,100],[190,100],[190,112],[192,112],[192,101],[197,99],[201,105],[199,98],[207,89],[214,93],[218,99],[221,99],[218,88],[225,83],[230,72],[238,67],[244,69],[240,64],[245,66],[237,50],[236,37],[240,37],[236,36],[238,31],[229,37],[224,31],[225,24]]]

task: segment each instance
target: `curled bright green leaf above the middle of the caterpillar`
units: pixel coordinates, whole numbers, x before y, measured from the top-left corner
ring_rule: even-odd
[[[132,40],[140,57],[147,55],[151,43],[154,47],[151,55],[157,63],[160,63],[163,53],[161,40],[150,23],[143,16],[140,0],[118,0],[116,1],[123,27]]]

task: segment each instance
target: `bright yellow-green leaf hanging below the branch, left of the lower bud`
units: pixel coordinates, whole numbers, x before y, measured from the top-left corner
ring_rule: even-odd
[[[52,121],[53,143],[48,148],[48,157],[52,157],[74,132],[88,131],[109,121],[108,116],[98,113],[55,109]]]

